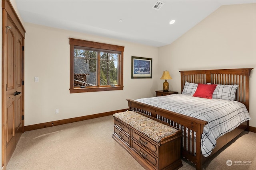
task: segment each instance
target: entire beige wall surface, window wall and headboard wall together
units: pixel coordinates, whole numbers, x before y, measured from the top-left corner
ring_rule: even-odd
[[[149,47],[26,23],[25,125],[127,108],[127,98],[155,95],[169,70],[170,90],[180,92],[179,70],[255,68],[255,4],[222,6],[174,43]],[[124,90],[69,93],[68,37],[125,46]],[[131,79],[131,56],[153,59],[152,79]],[[255,70],[250,78],[250,126],[256,127]],[[34,77],[39,82],[34,82]],[[147,86],[144,86],[146,84]],[[150,86],[148,86],[150,84]],[[55,109],[60,109],[55,114]]]

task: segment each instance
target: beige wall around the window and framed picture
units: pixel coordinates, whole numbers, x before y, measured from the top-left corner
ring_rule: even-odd
[[[31,23],[25,28],[25,126],[125,109],[127,98],[155,95],[158,48]],[[124,90],[70,94],[69,37],[124,46]],[[152,79],[131,79],[131,56],[152,58]]]

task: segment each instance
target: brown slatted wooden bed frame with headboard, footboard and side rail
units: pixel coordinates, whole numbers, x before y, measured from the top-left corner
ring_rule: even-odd
[[[185,82],[202,84],[238,84],[238,89],[236,90],[236,101],[243,103],[249,111],[249,76],[252,69],[253,68],[180,71],[181,92],[183,91]],[[174,127],[183,129],[184,147],[182,147],[181,150],[182,157],[194,163],[197,170],[202,169],[203,162],[212,156],[212,154],[217,152],[244,130],[248,131],[249,129],[249,121],[246,121],[233,131],[219,137],[212,154],[206,158],[201,153],[201,135],[203,133],[204,126],[208,123],[207,121],[181,115],[158,107],[149,106],[147,104],[142,104],[134,100],[128,99],[127,101],[129,109],[150,115],[151,117],[167,122]],[[191,134],[196,134],[196,144],[190,142],[190,139],[192,139],[191,141],[194,141],[194,135],[190,135],[190,133],[186,134],[186,130],[187,132],[190,131]],[[194,150],[194,147],[196,150]],[[195,152],[200,154],[194,154]]]

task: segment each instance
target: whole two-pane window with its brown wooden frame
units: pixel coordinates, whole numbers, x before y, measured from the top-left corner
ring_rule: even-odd
[[[123,90],[124,47],[69,38],[70,93]]]

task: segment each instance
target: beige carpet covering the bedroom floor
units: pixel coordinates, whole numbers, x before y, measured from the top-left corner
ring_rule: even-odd
[[[22,134],[7,170],[144,170],[111,135],[112,116]],[[209,170],[255,170],[256,133],[244,132],[203,165]],[[236,161],[231,166],[227,160]],[[249,161],[243,164],[241,161]],[[251,162],[250,162],[251,161]],[[180,170],[194,170],[182,160]]]

